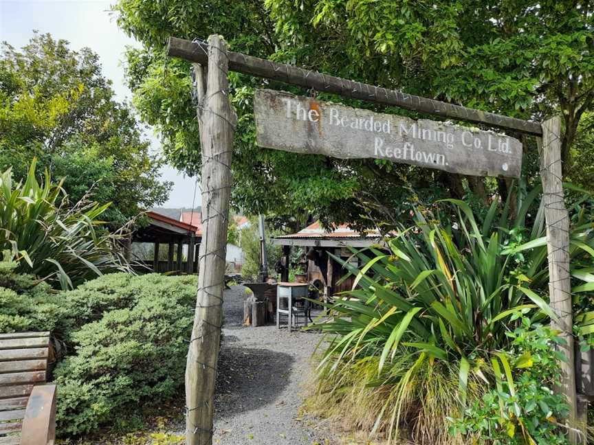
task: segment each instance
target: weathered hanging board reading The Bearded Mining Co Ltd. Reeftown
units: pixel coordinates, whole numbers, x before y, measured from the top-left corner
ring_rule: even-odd
[[[474,176],[520,177],[518,139],[450,122],[409,119],[260,89],[259,146],[341,159],[375,158]]]

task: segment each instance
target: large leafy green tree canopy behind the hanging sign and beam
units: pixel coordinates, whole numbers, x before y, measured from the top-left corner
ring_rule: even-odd
[[[583,150],[575,135],[594,101],[594,5],[587,1],[120,0],[115,10],[120,27],[144,45],[128,53],[135,105],[161,130],[168,159],[190,174],[199,167],[190,67],[164,56],[168,36],[218,33],[236,52],[524,119],[562,113],[567,171]],[[296,227],[308,214],[364,225],[386,208],[401,217],[416,199],[507,195],[509,181],[258,148],[255,87],[415,115],[236,73],[230,80],[239,115],[232,201],[244,212],[272,211]],[[524,145],[524,176],[535,181],[536,144],[524,138]]]

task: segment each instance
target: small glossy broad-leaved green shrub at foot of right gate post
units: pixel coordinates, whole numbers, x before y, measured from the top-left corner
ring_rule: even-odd
[[[498,389],[485,393],[461,418],[452,420],[453,435],[461,434],[473,444],[567,443],[566,431],[558,423],[568,413],[567,404],[551,389],[560,384],[562,358],[553,349],[560,339],[549,328],[530,326],[527,318],[522,322],[509,333],[513,339],[509,355],[516,357],[513,378],[501,379]]]

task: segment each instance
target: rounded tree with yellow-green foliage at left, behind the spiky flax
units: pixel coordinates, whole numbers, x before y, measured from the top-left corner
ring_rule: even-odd
[[[130,107],[114,98],[97,54],[74,52],[67,41],[35,34],[21,51],[3,43],[0,55],[0,168],[26,176],[33,157],[76,203],[91,192],[112,202],[113,227],[165,201],[162,160],[152,155]]]

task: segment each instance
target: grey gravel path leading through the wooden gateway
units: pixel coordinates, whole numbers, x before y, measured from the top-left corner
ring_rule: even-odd
[[[242,326],[244,289],[225,291],[214,444],[334,443],[318,422],[299,413],[320,334]]]

